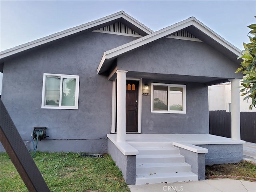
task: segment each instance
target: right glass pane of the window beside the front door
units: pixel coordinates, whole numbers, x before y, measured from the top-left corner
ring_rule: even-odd
[[[183,88],[170,87],[170,110],[183,111]]]

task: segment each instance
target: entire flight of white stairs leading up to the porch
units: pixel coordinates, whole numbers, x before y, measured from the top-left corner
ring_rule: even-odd
[[[198,180],[171,142],[129,142],[136,156],[136,185]]]

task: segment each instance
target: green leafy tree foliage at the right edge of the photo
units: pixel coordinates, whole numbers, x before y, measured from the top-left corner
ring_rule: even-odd
[[[256,108],[256,24],[251,24],[248,28],[251,29],[249,34],[252,36],[248,36],[249,43],[244,43],[243,56],[238,57],[238,59],[243,59],[241,62],[242,67],[238,68],[236,73],[242,72],[245,74],[241,83],[243,88],[240,92],[243,92],[241,96],[245,96],[244,100],[252,99],[252,104],[249,106],[250,110],[252,110],[253,107]]]

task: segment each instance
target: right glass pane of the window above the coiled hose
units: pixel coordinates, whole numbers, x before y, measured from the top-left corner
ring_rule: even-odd
[[[62,106],[75,106],[76,79],[63,78],[62,82]]]

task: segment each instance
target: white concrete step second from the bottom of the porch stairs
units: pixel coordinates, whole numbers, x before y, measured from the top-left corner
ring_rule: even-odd
[[[170,172],[191,172],[190,164],[182,163],[141,163],[136,164],[136,174],[158,174]]]

